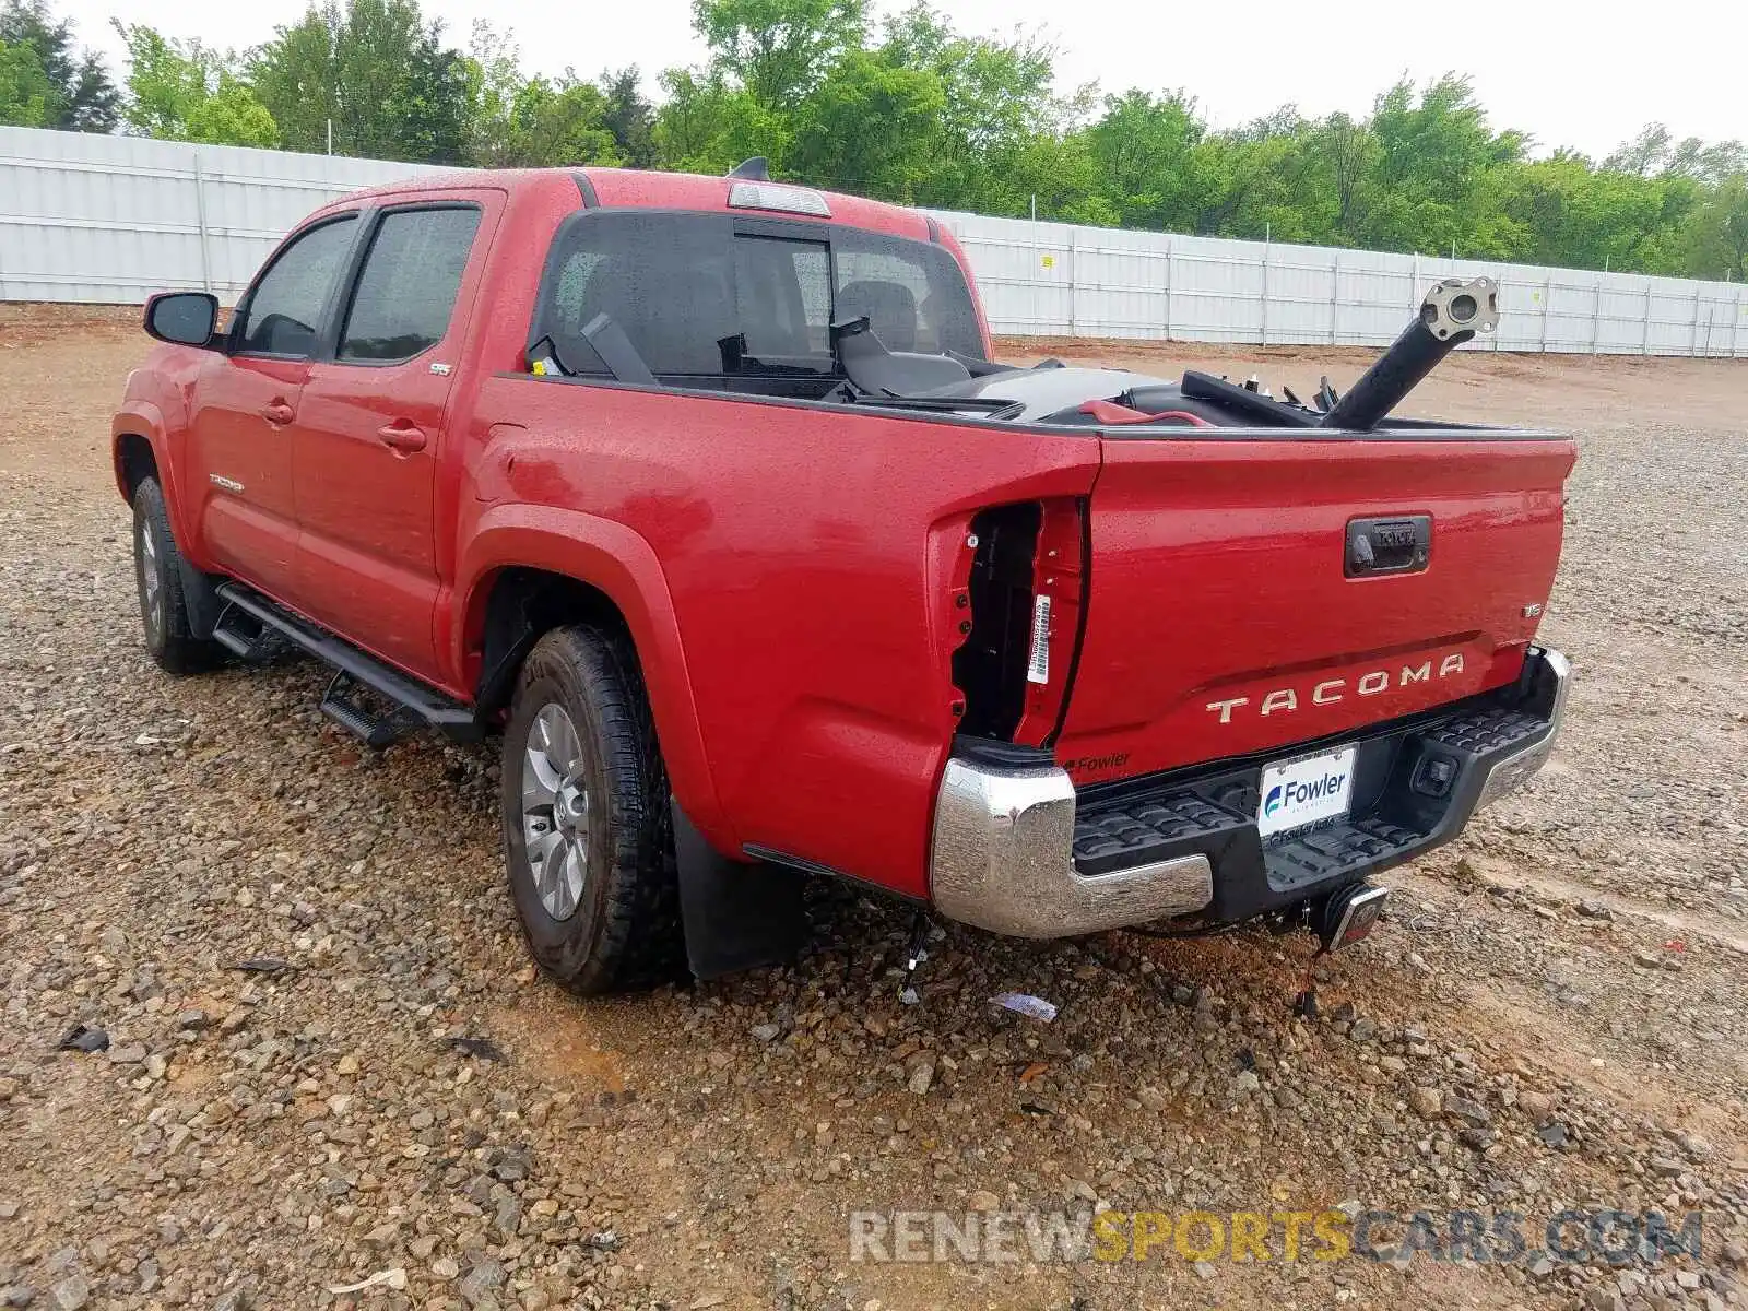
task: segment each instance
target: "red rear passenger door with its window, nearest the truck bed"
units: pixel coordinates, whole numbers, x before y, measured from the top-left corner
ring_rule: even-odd
[[[435,192],[371,215],[292,456],[301,607],[425,676],[437,675],[435,470],[500,205],[493,191]]]

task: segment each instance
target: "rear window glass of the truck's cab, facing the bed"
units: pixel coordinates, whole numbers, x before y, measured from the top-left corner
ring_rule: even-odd
[[[587,212],[547,257],[530,344],[605,374],[582,336],[612,318],[661,376],[830,374],[830,325],[867,315],[890,350],[981,355],[970,290],[937,245],[827,224]]]

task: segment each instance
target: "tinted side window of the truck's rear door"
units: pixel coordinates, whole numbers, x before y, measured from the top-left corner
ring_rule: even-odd
[[[339,358],[411,360],[442,341],[477,231],[472,206],[385,213],[358,273]]]

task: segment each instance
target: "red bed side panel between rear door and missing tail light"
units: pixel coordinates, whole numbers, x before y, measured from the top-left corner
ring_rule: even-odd
[[[477,496],[654,549],[734,839],[926,895],[970,519],[1086,496],[1096,437],[524,378],[481,404]],[[654,708],[666,746],[683,710]]]

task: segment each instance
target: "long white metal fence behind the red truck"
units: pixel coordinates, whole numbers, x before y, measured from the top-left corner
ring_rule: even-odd
[[[0,301],[232,299],[336,194],[420,164],[0,128]],[[1435,278],[1486,273],[1503,322],[1470,348],[1748,357],[1741,283],[937,215],[1012,336],[1388,343]]]

